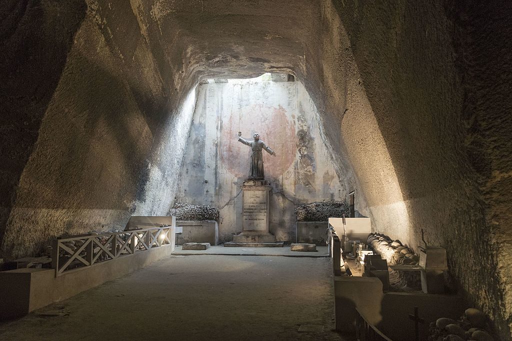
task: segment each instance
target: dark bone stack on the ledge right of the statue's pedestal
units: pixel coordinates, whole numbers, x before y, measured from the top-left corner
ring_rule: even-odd
[[[344,214],[349,214],[348,204],[336,200],[298,205],[295,208],[297,222],[327,222],[329,218],[340,218]]]

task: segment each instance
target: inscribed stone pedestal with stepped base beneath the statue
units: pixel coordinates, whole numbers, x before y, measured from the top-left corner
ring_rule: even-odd
[[[265,180],[246,180],[242,185],[242,233],[233,236],[224,246],[273,246],[275,236],[270,233],[270,193],[272,187]],[[262,245],[258,245],[262,244]],[[282,243],[279,243],[282,245]]]

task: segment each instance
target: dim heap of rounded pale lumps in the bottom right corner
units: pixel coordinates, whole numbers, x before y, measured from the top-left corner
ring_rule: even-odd
[[[487,316],[478,309],[466,309],[458,321],[438,318],[429,327],[429,341],[494,341],[488,332]]]

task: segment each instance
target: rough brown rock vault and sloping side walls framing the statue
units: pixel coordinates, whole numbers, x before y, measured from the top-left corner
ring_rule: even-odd
[[[293,74],[373,228],[448,250],[510,337],[510,4],[10,0],[0,9],[0,243],[172,204],[203,78]],[[191,92],[192,91],[192,92]]]

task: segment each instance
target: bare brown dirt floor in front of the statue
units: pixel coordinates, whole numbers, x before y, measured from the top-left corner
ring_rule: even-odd
[[[0,339],[342,340],[333,329],[329,258],[194,255],[2,323]]]

